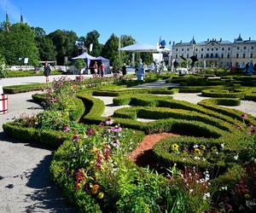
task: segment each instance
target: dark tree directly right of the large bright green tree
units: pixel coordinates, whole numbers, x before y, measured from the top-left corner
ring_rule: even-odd
[[[56,60],[56,48],[52,40],[46,36],[44,29],[41,27],[33,28],[35,32],[35,41],[37,43],[40,60]]]

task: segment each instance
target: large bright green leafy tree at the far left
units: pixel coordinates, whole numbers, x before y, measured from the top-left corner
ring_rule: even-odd
[[[19,58],[28,58],[28,64],[38,61],[38,48],[35,43],[35,35],[32,28],[27,24],[16,23],[10,26],[9,32],[0,37],[0,46],[4,49],[3,56],[7,64],[19,64]]]

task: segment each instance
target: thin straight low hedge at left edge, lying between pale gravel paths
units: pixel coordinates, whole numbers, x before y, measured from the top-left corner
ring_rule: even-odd
[[[3,87],[3,93],[5,94],[16,94],[35,90],[41,90],[49,87],[50,83],[32,83],[23,85],[13,85]]]

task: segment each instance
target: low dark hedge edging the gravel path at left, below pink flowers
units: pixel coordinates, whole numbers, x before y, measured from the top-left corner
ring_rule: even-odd
[[[54,148],[59,147],[63,141],[71,138],[71,135],[62,131],[36,130],[19,126],[14,122],[3,124],[3,131],[12,138],[38,142]]]

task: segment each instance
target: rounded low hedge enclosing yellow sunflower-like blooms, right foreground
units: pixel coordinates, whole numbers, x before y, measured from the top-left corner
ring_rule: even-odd
[[[177,151],[172,150],[173,144],[178,146]],[[194,153],[194,146],[196,145],[198,145],[197,148],[200,154]],[[204,151],[201,149],[201,145],[204,146]],[[216,148],[217,154],[212,152],[212,147]],[[154,145],[154,153],[166,167],[177,163],[182,166],[196,165],[201,168],[212,168],[213,166],[226,168],[235,163],[234,156],[236,155],[236,152],[230,149],[231,146],[227,147],[225,143],[225,147],[222,148],[218,140],[180,136],[168,137],[156,143]],[[183,152],[183,149],[187,151]],[[198,157],[198,159],[195,159],[195,157]]]

